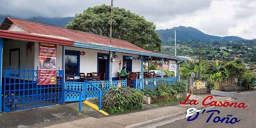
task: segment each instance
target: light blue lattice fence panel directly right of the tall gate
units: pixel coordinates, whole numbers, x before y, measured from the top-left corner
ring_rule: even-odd
[[[65,82],[65,89],[67,90],[74,90],[81,92],[82,100],[85,100],[85,83],[84,82]],[[78,92],[71,92],[71,91],[64,91],[65,101],[79,101]]]

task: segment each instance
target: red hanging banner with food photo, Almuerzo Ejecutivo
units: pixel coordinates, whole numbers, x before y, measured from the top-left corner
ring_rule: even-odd
[[[56,57],[56,44],[39,43],[39,69],[37,84],[56,84]]]

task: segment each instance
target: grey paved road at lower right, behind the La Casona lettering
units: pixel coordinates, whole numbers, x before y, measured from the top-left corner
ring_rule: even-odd
[[[246,103],[246,105],[248,105],[246,108],[214,107],[209,109],[219,110],[220,114],[214,115],[220,116],[221,119],[223,117],[227,117],[227,115],[233,115],[232,117],[241,119],[240,122],[235,124],[225,124],[225,122],[213,123],[213,118],[215,117],[213,115],[210,121],[206,123],[206,120],[211,115],[211,113],[200,113],[197,119],[194,121],[188,122],[185,119],[181,119],[170,124],[158,126],[157,128],[256,128],[256,91],[240,93],[212,91],[212,94],[236,98],[236,100],[231,102]]]

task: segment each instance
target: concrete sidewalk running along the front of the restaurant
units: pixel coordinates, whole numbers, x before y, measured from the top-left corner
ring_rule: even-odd
[[[191,95],[190,99],[199,102],[196,108],[203,108],[202,101],[207,95]],[[227,97],[213,97],[212,100],[231,100]],[[207,102],[210,102],[207,100]],[[121,128],[121,127],[143,127],[152,123],[163,122],[176,116],[184,115],[191,105],[172,104],[165,106],[145,105],[146,109],[113,114],[105,116],[102,113],[82,105],[82,113],[78,112],[78,103],[67,105],[55,105],[42,108],[28,109],[17,112],[4,113],[0,116],[0,127],[11,128]],[[195,106],[193,106],[195,107]]]

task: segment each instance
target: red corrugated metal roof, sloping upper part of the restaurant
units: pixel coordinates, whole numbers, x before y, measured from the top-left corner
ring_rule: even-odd
[[[78,42],[90,43],[90,44],[101,44],[109,45],[109,37],[95,35],[87,32],[77,31],[68,28],[55,27],[51,25],[36,23],[27,20],[20,20],[15,18],[8,17],[7,19],[11,20],[14,24],[20,28],[25,29],[29,33],[51,35],[51,36],[60,36],[72,39]],[[112,38],[111,46],[117,48],[124,48],[134,51],[149,52],[144,50],[128,41]]]

